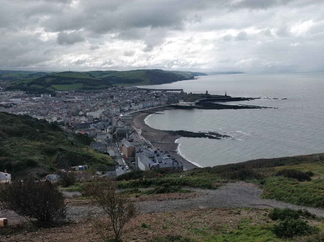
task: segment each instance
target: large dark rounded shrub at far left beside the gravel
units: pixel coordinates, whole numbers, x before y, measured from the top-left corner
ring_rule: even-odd
[[[49,182],[26,179],[0,185],[0,206],[16,212],[29,222],[51,227],[66,217],[63,193]]]

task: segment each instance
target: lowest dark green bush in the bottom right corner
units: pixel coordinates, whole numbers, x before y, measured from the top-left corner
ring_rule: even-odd
[[[272,227],[273,233],[278,237],[294,237],[296,235],[307,235],[316,233],[319,229],[315,226],[310,226],[307,221],[287,218],[277,225]]]

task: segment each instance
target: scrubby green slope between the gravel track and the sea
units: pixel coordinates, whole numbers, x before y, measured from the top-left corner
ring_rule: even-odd
[[[313,207],[324,207],[324,153],[281,157],[273,159],[250,160],[237,164],[215,167],[195,168],[185,171],[185,177],[179,178],[179,172],[136,171],[118,177],[120,188],[189,186],[217,189],[226,181],[250,180],[263,184],[264,197]],[[295,179],[274,177],[282,169],[312,171],[313,180],[298,182]],[[157,178],[161,173],[163,178]],[[143,177],[145,176],[145,179]],[[319,178],[319,179],[318,179]]]

